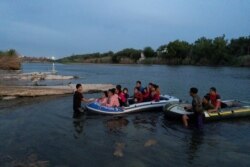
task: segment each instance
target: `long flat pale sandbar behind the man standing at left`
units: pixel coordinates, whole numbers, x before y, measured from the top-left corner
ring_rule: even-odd
[[[83,91],[97,92],[104,91],[115,86],[112,84],[82,84]],[[75,84],[66,86],[0,86],[2,97],[35,97],[46,95],[71,94],[75,91]]]

